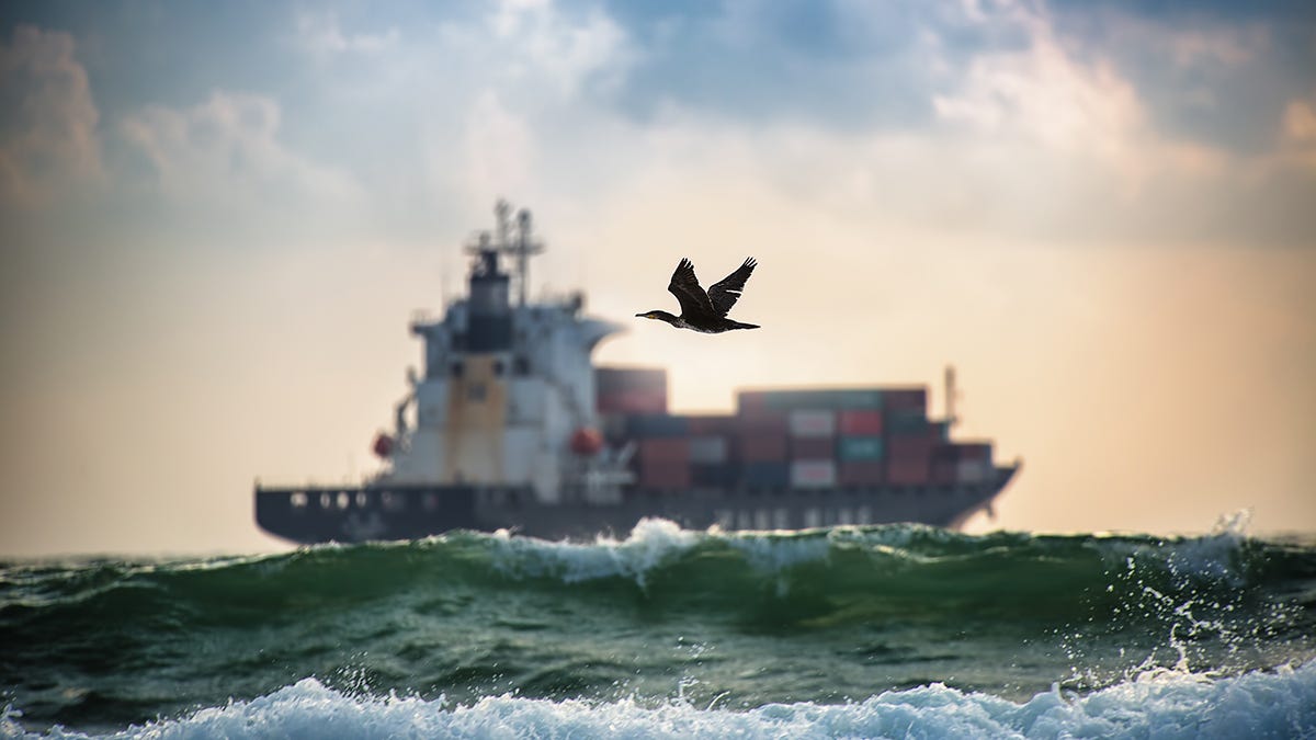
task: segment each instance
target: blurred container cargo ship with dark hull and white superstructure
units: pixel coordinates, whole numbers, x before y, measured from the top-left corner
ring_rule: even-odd
[[[990,441],[951,437],[951,369],[940,419],[926,386],[750,388],[729,413],[672,413],[663,369],[594,365],[622,327],[586,316],[582,294],[528,300],[544,244],[528,211],[500,201],[495,215],[466,244],[466,296],[411,324],[422,370],[374,438],[379,471],[351,486],[258,481],[262,529],[311,544],[454,529],[590,539],[644,517],[957,528],[1019,470]]]

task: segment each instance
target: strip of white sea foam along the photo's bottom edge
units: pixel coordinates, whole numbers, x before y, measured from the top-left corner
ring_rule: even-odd
[[[5,737],[88,737],[54,728]],[[850,704],[767,704],[737,712],[688,703],[549,702],[513,697],[451,706],[418,698],[351,698],[315,678],[250,702],[107,735],[193,737],[1312,737],[1316,661],[1232,678],[1182,672],[1069,697],[1057,690],[1015,703],[940,683]]]

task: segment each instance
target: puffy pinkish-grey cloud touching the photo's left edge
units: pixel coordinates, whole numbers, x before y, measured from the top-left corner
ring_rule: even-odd
[[[45,205],[103,175],[100,115],[75,50],[70,34],[34,26],[0,45],[0,203]]]

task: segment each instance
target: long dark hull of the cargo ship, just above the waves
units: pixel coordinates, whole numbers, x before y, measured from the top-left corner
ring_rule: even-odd
[[[645,517],[687,529],[807,529],[921,523],[958,528],[987,510],[1016,467],[979,483],[845,489],[636,489],[616,500],[541,503],[525,487],[257,487],[255,519],[299,544],[413,540],[466,529],[561,540],[629,532]]]

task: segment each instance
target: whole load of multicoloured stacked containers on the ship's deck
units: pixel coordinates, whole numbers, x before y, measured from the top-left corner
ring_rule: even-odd
[[[666,413],[662,370],[599,370],[609,437],[642,487],[833,489],[980,483],[991,445],[951,444],[925,387],[741,391],[734,415]]]

